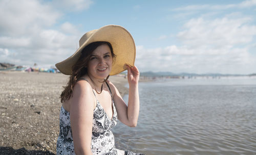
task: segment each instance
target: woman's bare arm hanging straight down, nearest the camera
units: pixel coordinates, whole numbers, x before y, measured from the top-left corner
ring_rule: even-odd
[[[92,126],[95,98],[87,81],[78,81],[70,104],[70,122],[76,154],[92,154]]]

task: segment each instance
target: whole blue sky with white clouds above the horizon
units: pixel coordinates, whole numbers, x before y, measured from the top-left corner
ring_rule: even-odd
[[[104,25],[127,29],[140,72],[256,73],[256,0],[0,0],[0,62],[51,67]]]

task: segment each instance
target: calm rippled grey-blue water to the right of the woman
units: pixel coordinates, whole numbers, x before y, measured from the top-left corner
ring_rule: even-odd
[[[140,83],[135,128],[116,146],[146,154],[256,154],[256,78]],[[127,100],[127,96],[124,97]]]

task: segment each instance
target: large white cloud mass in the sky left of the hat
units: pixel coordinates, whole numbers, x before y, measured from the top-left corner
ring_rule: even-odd
[[[72,1],[74,5],[84,2],[88,1]],[[77,48],[79,31],[74,25],[65,22],[60,29],[52,29],[62,15],[52,3],[3,0],[0,14],[0,62],[49,67]]]

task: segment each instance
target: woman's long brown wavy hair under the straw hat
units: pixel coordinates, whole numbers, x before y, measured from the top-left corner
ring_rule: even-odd
[[[97,41],[90,43],[86,47],[84,47],[81,51],[81,56],[78,59],[78,61],[72,66],[72,74],[69,77],[69,82],[67,86],[64,86],[64,90],[62,91],[60,95],[60,101],[61,103],[65,102],[66,100],[70,99],[73,95],[73,88],[75,86],[75,83],[77,79],[79,79],[81,76],[87,74],[87,66],[90,61],[90,56],[92,55],[93,51],[100,45],[106,44],[110,47],[112,59],[115,58],[115,54],[113,52],[113,47],[111,43],[106,41]],[[106,79],[103,81],[109,79],[109,76],[106,77]]]

